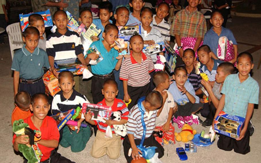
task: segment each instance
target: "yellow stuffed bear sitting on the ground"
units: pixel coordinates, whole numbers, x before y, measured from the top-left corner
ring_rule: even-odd
[[[184,124],[180,133],[175,132],[175,137],[177,141],[188,142],[194,138],[194,135],[196,133],[197,131],[193,130],[193,128],[190,125]]]

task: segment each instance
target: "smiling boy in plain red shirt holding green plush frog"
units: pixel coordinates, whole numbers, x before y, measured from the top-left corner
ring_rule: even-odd
[[[71,160],[61,156],[54,149],[59,144],[59,131],[56,122],[53,118],[47,116],[50,110],[48,97],[45,94],[37,93],[32,97],[32,104],[30,110],[33,112],[30,117],[24,119],[24,123],[28,123],[30,129],[39,130],[42,133],[41,140],[39,140],[38,147],[43,156],[41,162],[43,163],[70,163]],[[18,152],[18,144],[28,144],[28,135],[13,136],[13,149]]]

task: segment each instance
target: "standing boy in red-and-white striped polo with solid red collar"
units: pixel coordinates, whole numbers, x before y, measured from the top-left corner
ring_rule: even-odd
[[[149,55],[142,52],[143,38],[136,34],[130,39],[131,57],[126,58],[120,68],[120,79],[123,80],[124,100],[131,103],[128,109],[137,104],[142,96],[149,93],[151,73],[154,64]]]

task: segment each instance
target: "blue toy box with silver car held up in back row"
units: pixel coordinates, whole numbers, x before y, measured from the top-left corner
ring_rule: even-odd
[[[131,39],[131,36],[135,34],[141,34],[141,25],[133,25],[133,26],[118,26],[119,34],[118,37],[124,39],[124,41],[128,41]]]

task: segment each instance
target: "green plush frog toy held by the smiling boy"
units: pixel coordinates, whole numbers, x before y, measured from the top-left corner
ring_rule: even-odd
[[[13,132],[17,137],[20,135],[25,135],[26,131],[31,132],[32,134],[29,133],[29,135],[33,135],[33,138],[32,140],[30,138],[29,144],[18,144],[18,150],[23,153],[24,157],[28,160],[28,163],[40,162],[42,152],[38,148],[37,143],[34,141],[39,141],[41,139],[41,132],[30,129],[29,125],[24,123],[24,120],[22,119],[13,122]]]

